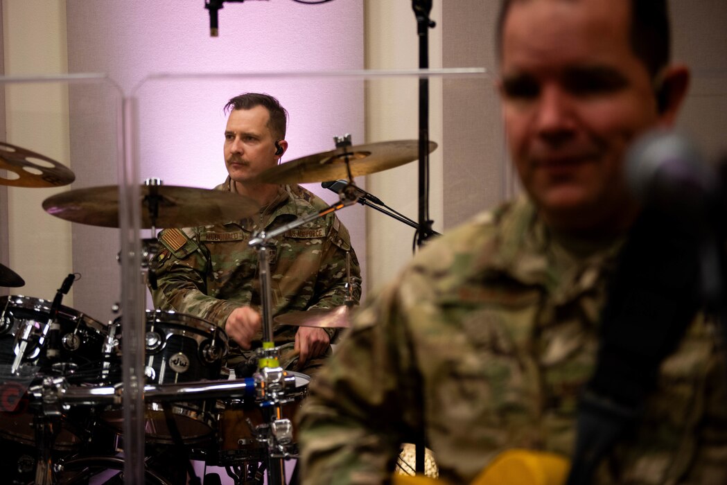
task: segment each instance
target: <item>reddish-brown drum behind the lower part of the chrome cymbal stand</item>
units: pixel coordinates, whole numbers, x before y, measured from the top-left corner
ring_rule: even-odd
[[[308,396],[310,377],[300,372],[286,371],[295,376],[295,388],[286,390],[284,404],[281,406],[281,419],[293,423],[293,441],[297,443],[295,415]],[[262,461],[268,456],[267,445],[257,441],[255,429],[264,424],[265,419],[260,403],[254,399],[234,399],[225,402],[225,410],[218,422],[220,436],[220,465],[234,465],[244,461]]]

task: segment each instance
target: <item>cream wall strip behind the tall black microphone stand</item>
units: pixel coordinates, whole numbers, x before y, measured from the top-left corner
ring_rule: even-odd
[[[442,4],[433,2],[429,30],[430,68],[442,67]],[[366,2],[366,68],[419,68],[417,20],[409,1]],[[366,132],[371,141],[417,140],[419,137],[418,79],[372,81],[366,99]],[[430,155],[430,219],[434,231],[443,230],[442,93],[441,80],[430,81],[430,140],[440,147]],[[406,217],[419,219],[418,161],[366,177],[366,187]],[[389,281],[411,259],[414,229],[368,209],[369,280],[376,289]]]

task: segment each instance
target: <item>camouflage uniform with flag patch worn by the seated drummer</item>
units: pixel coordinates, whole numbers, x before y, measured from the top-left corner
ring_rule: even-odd
[[[230,191],[230,177],[215,189]],[[161,231],[159,241],[164,247],[158,254],[158,287],[152,292],[154,305],[161,310],[204,318],[222,328],[235,308],[244,305],[260,308],[257,252],[248,246],[252,234],[262,228],[270,231],[326,207],[325,201],[305,188],[281,185],[277,198],[254,217]],[[361,270],[348,230],[336,215],[319,217],[270,241],[272,315],[343,305],[348,291],[347,252],[350,252],[350,275],[356,289],[353,297],[358,303]],[[287,344],[284,354],[285,350],[292,349],[297,329],[297,326],[273,325],[276,345]],[[332,340],[337,336],[337,329],[326,329],[326,332]],[[260,341],[254,342],[255,345],[260,346]],[[233,345],[228,366],[253,355]]]

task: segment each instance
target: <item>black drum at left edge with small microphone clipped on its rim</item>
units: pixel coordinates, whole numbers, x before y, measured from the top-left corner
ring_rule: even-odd
[[[17,337],[30,326],[28,347],[23,364],[39,365],[45,374],[67,374],[75,380],[92,382],[97,377],[102,345],[107,326],[79,311],[60,305],[57,321],[60,325],[59,355],[46,358],[47,324],[52,302],[39,298],[15,295],[0,297],[0,364],[12,364],[17,352]]]

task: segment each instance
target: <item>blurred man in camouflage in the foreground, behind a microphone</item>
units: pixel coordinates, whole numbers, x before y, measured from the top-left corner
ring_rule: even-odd
[[[560,457],[561,480],[585,455],[593,476],[571,483],[727,483],[727,374],[696,313],[696,244],[624,175],[688,87],[666,1],[505,0],[498,43],[526,196],[431,243],[364,306],[302,410],[304,483],[387,482],[422,431],[451,484],[513,449]],[[613,439],[593,445],[604,424]]]

